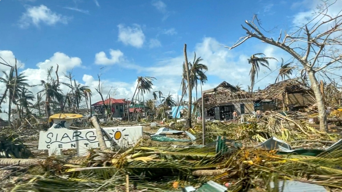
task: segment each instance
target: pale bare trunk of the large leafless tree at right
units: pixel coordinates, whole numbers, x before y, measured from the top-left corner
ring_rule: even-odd
[[[319,88],[319,83],[315,77],[314,72],[308,72],[307,74],[310,79],[312,90],[315,93],[315,97],[317,101],[317,108],[318,108],[318,114],[319,114],[319,131],[328,132],[327,114],[325,111],[323,95]]]

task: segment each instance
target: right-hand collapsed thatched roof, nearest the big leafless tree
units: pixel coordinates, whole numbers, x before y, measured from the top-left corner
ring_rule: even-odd
[[[264,90],[255,93],[255,97],[282,100],[285,93],[312,93],[312,89],[297,79],[289,79],[268,85]]]

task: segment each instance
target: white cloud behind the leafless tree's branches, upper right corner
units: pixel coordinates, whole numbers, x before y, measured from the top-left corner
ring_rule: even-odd
[[[324,4],[326,3],[326,4]],[[293,28],[291,29],[291,32],[299,30],[299,28],[302,28],[305,24],[307,24],[308,29],[312,31],[312,29],[318,27],[319,24],[322,24],[323,22],[327,22],[331,18],[341,16],[341,7],[342,7],[342,1],[341,0],[327,0],[327,1],[321,1],[321,0],[313,0],[313,1],[308,1],[304,0],[299,3],[294,3],[292,5],[293,8],[298,8],[298,7],[304,7],[305,11],[299,12],[294,15],[292,24]],[[328,8],[326,9],[326,7]],[[311,35],[311,37],[315,37],[319,34],[324,34],[324,32],[331,30],[336,26],[337,23],[340,23],[340,19],[338,18],[337,21],[333,20],[331,22],[324,23],[316,29],[316,31]],[[305,30],[300,30],[296,32],[293,36],[300,36],[300,37],[305,37],[306,35],[304,34]],[[329,35],[325,35],[316,41],[318,42],[323,42],[324,39],[328,38],[328,41],[324,48],[324,51],[321,52],[323,54],[320,54],[318,57],[316,63],[315,63],[315,68],[319,68],[323,65],[325,65],[328,61],[332,60],[331,58],[336,58],[339,55],[341,55],[341,50],[342,50],[342,45],[339,43],[336,43],[337,41],[341,41],[341,35],[342,31],[336,30],[333,33]],[[299,54],[304,54],[306,51],[307,43],[303,41],[297,41],[295,43],[291,44],[291,47],[301,47],[300,49],[297,49]],[[311,49],[311,53],[308,56],[308,59],[311,60],[315,57],[317,51],[319,49],[319,46],[314,45],[313,48]],[[315,51],[313,51],[315,50]],[[336,62],[329,67],[325,68],[325,73],[323,72],[318,72],[316,73],[317,78],[324,78],[327,80],[325,77],[329,78],[335,78],[336,80],[341,77],[341,64],[339,62]],[[322,77],[323,76],[323,77]],[[330,80],[327,80],[330,81]]]

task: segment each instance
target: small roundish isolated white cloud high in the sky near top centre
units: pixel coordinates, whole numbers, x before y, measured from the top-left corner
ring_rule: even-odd
[[[125,45],[140,48],[145,41],[145,35],[140,25],[134,24],[133,27],[125,27],[123,24],[118,25],[119,35],[118,40]]]

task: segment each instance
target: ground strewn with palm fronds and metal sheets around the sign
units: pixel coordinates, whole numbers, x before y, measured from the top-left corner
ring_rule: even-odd
[[[340,112],[330,115],[336,117]],[[265,112],[260,120],[207,122],[205,146],[201,122],[186,130],[195,139],[184,134],[183,123],[158,122],[157,126],[145,126],[145,135],[132,148],[92,149],[86,157],[77,157],[74,150],[49,157],[47,151],[38,151],[39,131],[48,127],[43,123],[7,127],[0,137],[1,189],[159,192],[189,186],[207,189],[210,182],[216,182],[237,192],[271,191],[291,181],[308,184],[308,188],[317,184],[327,191],[341,191],[342,129],[338,123],[330,123],[329,133],[321,133],[317,124],[309,122],[314,116]],[[148,122],[125,125],[132,124]],[[162,127],[168,129],[160,135],[178,140],[152,140]],[[170,129],[176,134],[170,134]]]

